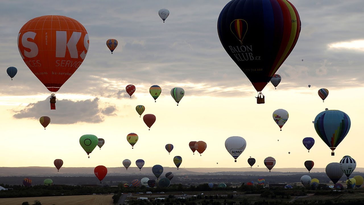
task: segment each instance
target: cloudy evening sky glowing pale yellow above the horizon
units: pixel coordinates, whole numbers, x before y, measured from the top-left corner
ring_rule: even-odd
[[[361,150],[363,109],[364,2],[361,0],[291,0],[302,27],[292,53],[277,71],[281,83],[268,84],[265,104],[256,104],[256,90],[223,49],[217,34],[217,18],[228,0],[160,1],[26,1],[4,0],[0,7],[0,167],[53,166],[120,167],[124,159],[144,159],[145,167],[248,167],[276,159],[276,168],[314,167],[339,162],[344,155],[364,167]],[[170,11],[163,23],[161,8]],[[82,65],[56,93],[56,110],[50,110],[50,92],[28,69],[17,48],[20,28],[32,18],[64,15],[78,20],[87,30],[90,47]],[[106,40],[119,45],[111,54]],[[304,59],[304,61],[302,61]],[[6,69],[18,69],[13,81]],[[130,98],[128,84],[136,86]],[[308,85],[311,85],[308,88]],[[154,102],[151,85],[162,94]],[[174,87],[185,90],[179,106],[170,95]],[[323,102],[320,88],[329,96]],[[135,111],[157,118],[148,130]],[[331,156],[318,137],[312,121],[328,109],[339,109],[350,117],[351,129]],[[285,109],[289,119],[280,131],[272,118]],[[39,118],[49,116],[46,130]],[[127,134],[138,134],[134,149]],[[93,134],[105,140],[87,158],[79,138]],[[225,149],[225,140],[241,136],[247,146],[237,162]],[[308,152],[302,139],[312,137]],[[192,154],[190,141],[204,141],[202,156]],[[279,140],[279,141],[278,141]],[[169,155],[165,145],[174,149]],[[290,152],[290,154],[288,154]],[[218,163],[218,164],[217,164]],[[274,168],[272,169],[274,171]]]

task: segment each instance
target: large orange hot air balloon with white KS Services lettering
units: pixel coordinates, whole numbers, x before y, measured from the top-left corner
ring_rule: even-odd
[[[89,39],[86,29],[66,16],[40,16],[29,20],[18,34],[21,58],[51,92],[75,73],[86,57]],[[55,108],[51,95],[51,109]]]

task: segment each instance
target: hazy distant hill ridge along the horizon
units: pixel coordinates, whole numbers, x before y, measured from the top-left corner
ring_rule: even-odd
[[[145,175],[151,174],[151,167],[107,167],[107,175]],[[172,171],[175,175],[290,175],[308,173],[306,168],[273,168],[272,172],[264,168],[179,168],[164,167],[163,173]],[[311,173],[325,172],[325,168],[313,168]],[[355,172],[364,173],[364,168],[356,167]],[[0,176],[94,176],[94,167],[62,167],[59,172],[55,167],[0,167]]]

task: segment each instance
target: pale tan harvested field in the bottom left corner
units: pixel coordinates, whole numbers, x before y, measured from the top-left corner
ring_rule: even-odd
[[[82,195],[82,196],[54,196],[54,197],[24,197],[24,198],[0,198],[1,205],[21,205],[24,201],[33,204],[35,200],[42,205],[112,205],[112,194]]]

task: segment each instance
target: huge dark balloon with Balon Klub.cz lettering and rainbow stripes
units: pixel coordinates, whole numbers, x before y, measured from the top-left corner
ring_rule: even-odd
[[[232,0],[217,20],[222,46],[257,92],[291,53],[300,31],[300,16],[287,0]]]

